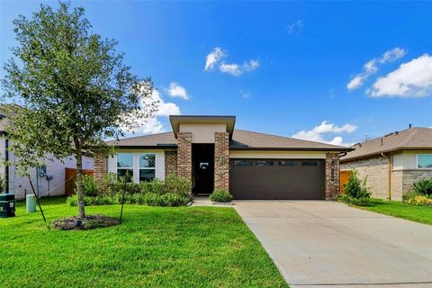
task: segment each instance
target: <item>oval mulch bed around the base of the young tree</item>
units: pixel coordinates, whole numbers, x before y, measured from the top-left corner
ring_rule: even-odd
[[[90,215],[85,218],[68,217],[51,222],[52,229],[58,230],[88,230],[111,227],[121,223],[121,220],[103,215]]]

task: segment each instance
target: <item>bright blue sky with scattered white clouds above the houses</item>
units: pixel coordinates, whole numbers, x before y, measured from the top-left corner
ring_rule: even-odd
[[[12,21],[39,4],[0,0],[2,65]],[[432,127],[432,2],[72,5],[157,87],[137,135],[170,130],[169,114],[235,115],[237,129],[337,145]]]

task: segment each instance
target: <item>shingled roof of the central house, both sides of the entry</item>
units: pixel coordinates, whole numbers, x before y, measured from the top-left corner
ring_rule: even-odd
[[[169,148],[176,144],[174,133],[158,133],[107,141],[108,144],[123,148]],[[293,139],[247,130],[235,129],[229,144],[230,149],[275,149],[275,150],[334,150],[350,151],[352,148]]]

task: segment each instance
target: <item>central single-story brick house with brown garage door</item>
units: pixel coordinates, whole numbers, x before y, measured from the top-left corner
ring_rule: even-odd
[[[130,175],[138,183],[175,174],[194,194],[226,189],[237,199],[333,199],[339,155],[352,148],[234,129],[234,116],[170,116],[172,131],[108,141],[94,176]]]

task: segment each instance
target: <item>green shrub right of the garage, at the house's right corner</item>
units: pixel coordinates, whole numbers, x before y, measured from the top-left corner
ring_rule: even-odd
[[[371,198],[369,188],[366,186],[366,178],[362,181],[356,170],[349,175],[348,182],[344,184],[345,193],[339,195],[338,201],[348,204],[366,206]]]

